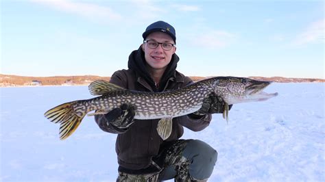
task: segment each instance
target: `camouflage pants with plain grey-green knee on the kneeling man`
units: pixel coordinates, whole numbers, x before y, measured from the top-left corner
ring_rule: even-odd
[[[153,164],[163,166],[152,174],[126,174],[119,172],[117,181],[154,182],[168,179],[175,181],[207,181],[217,161],[217,151],[200,140],[177,140],[163,148],[154,157]]]

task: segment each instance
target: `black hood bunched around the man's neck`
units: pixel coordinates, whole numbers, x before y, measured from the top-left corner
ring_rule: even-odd
[[[162,91],[165,88],[165,85],[167,83],[167,80],[171,77],[175,77],[176,74],[176,67],[177,63],[180,60],[178,55],[176,53],[173,54],[171,57],[171,62],[169,62],[165,73],[163,77],[160,80],[159,88],[156,89],[154,79],[152,79],[151,75],[149,74],[149,71],[147,70],[147,62],[145,61],[145,52],[139,47],[138,50],[132,51],[132,53],[129,56],[128,61],[128,68],[130,70],[134,70],[137,77],[142,77],[149,83],[149,85],[153,88],[155,91]]]

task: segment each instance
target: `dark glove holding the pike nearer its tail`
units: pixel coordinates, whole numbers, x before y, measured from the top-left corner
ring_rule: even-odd
[[[112,109],[105,114],[107,125],[112,126],[117,131],[125,131],[134,122],[134,105],[123,103],[121,107]]]

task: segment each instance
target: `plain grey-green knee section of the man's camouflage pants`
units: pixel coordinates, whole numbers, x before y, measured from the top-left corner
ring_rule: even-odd
[[[191,160],[189,174],[194,179],[208,179],[213,172],[218,153],[210,145],[201,140],[191,140],[182,153]]]

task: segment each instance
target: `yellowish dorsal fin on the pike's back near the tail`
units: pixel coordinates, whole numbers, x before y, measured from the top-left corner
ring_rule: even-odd
[[[108,92],[112,92],[113,90],[125,90],[124,88],[121,88],[120,86],[117,86],[114,83],[110,83],[105,80],[93,81],[88,86],[88,89],[92,95],[102,95]]]

